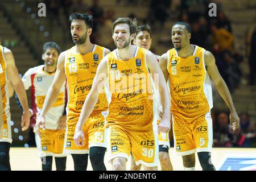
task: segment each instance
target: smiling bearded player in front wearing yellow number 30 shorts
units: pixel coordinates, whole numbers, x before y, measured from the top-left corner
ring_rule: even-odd
[[[112,38],[117,49],[105,56],[98,66],[74,136],[78,146],[84,145],[82,126],[86,125],[102,86],[108,82],[112,96],[106,128],[108,160],[113,170],[126,170],[131,152],[137,165],[157,170],[158,131],[168,133],[170,130],[170,94],[163,73],[152,52],[131,45],[135,32],[135,20],[118,18],[113,23]],[[155,86],[159,87],[163,105],[163,118],[158,126]]]

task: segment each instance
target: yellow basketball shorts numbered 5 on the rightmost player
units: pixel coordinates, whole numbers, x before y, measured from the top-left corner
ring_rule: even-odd
[[[196,119],[172,114],[174,147],[177,155],[212,151],[213,133],[210,112]]]

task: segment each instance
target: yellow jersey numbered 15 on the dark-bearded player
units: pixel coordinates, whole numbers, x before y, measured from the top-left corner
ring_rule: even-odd
[[[104,55],[105,48],[95,45],[92,52],[81,55],[76,47],[68,49],[65,54],[65,75],[68,82],[68,124],[77,122],[82,106],[96,75],[98,64]],[[101,113],[108,109],[106,94],[101,92],[91,115]]]

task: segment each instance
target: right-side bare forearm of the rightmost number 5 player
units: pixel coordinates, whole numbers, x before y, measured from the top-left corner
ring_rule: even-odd
[[[226,85],[223,78],[216,84],[216,88],[218,90],[218,93],[225,101],[226,105],[229,107],[230,111],[236,111],[236,108],[234,107],[233,100],[231,97],[231,94],[229,92],[228,86]]]

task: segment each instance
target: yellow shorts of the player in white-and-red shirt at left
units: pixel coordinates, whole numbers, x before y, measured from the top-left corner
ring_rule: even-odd
[[[41,137],[35,134],[36,147],[40,158],[44,156],[64,157],[63,146],[65,130],[40,129]]]

